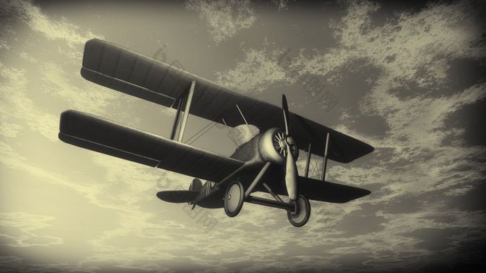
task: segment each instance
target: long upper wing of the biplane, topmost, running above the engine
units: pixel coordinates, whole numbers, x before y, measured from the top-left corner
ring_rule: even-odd
[[[88,81],[174,108],[174,101],[184,94],[191,81],[196,81],[190,108],[192,115],[219,123],[224,118],[228,126],[237,126],[242,124],[242,117],[235,107],[237,104],[248,122],[258,126],[260,131],[284,128],[282,110],[278,106],[244,96],[110,42],[97,39],[86,42],[81,75]],[[295,113],[289,113],[289,118],[292,136],[299,149],[306,150],[311,143],[312,154],[324,156],[326,133],[330,134],[328,158],[331,160],[349,163],[374,150],[369,144]]]

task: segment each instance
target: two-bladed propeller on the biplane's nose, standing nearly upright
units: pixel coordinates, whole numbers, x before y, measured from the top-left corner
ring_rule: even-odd
[[[294,144],[294,138],[290,135],[289,124],[289,108],[287,106],[287,98],[285,94],[282,94],[282,110],[283,120],[285,122],[285,146],[287,147],[287,161],[285,162],[285,186],[287,187],[287,193],[292,200],[296,200],[299,197],[299,186],[297,185],[298,174],[297,166],[295,164],[295,158],[292,154],[290,145]]]

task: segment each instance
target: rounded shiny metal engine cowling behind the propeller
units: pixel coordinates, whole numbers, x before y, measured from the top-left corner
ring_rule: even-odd
[[[260,156],[265,161],[285,165],[285,158],[287,157],[287,148],[285,147],[285,132],[278,128],[271,128],[263,133],[258,142],[258,150]],[[290,149],[295,160],[299,157],[299,148],[297,143],[291,141]]]

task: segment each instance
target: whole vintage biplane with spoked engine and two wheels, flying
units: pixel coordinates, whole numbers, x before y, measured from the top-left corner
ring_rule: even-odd
[[[194,177],[188,190],[162,190],[159,199],[188,202],[192,208],[224,208],[229,217],[238,215],[244,203],[271,206],[286,210],[292,225],[303,226],[310,217],[309,199],[345,203],[370,193],[326,181],[326,165],[328,159],[350,163],[374,148],[290,112],[285,94],[282,105],[275,106],[97,39],[85,44],[81,76],[176,110],[169,138],[76,110],[60,115],[63,142]],[[260,132],[251,131],[253,138],[245,143],[237,143],[232,135],[234,153],[221,156],[183,143],[189,114],[224,124],[230,133],[240,124],[250,131],[253,124]],[[307,155],[303,176],[296,167],[299,150]],[[308,176],[311,154],[323,158],[321,179]],[[253,192],[269,195],[257,197]]]

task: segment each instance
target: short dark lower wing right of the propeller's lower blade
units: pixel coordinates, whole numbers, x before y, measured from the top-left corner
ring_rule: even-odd
[[[299,176],[299,193],[311,200],[346,203],[369,195],[369,190]]]

